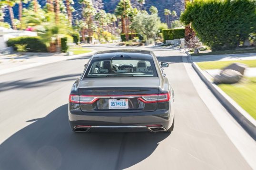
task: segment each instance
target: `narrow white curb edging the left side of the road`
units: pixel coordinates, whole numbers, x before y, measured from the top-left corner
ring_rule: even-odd
[[[92,52],[85,53],[85,54],[73,55],[72,57],[70,56],[70,58],[66,58],[66,59],[63,59],[63,60],[58,60],[58,61],[53,61],[53,62],[46,62],[46,63],[33,63],[33,64],[25,65],[25,66],[17,66],[17,67],[1,70],[0,75],[5,75],[5,74],[13,73],[13,72],[16,72],[16,71],[25,70],[25,69],[28,69],[28,68],[33,68],[33,67],[36,67],[36,66],[43,66],[43,65],[47,65],[47,64],[51,64],[51,63],[56,63],[56,62],[59,62],[59,61],[65,61],[65,60],[69,60],[69,59],[73,59],[73,58],[77,58],[77,57],[86,57],[86,56],[93,55],[96,52],[97,52],[96,50],[93,50]]]

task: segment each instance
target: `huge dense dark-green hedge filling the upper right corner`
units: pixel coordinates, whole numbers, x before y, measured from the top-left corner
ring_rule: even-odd
[[[212,50],[233,49],[256,32],[255,0],[194,0],[181,21],[192,24],[197,37]]]

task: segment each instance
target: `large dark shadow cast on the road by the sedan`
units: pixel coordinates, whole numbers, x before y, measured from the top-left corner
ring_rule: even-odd
[[[75,133],[68,104],[0,145],[0,170],[121,170],[146,159],[169,133]],[[7,127],[8,128],[8,127]]]

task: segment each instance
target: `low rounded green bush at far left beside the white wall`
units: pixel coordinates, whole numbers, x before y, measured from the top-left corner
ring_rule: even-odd
[[[26,45],[26,50],[28,52],[47,52],[46,45],[41,41],[39,37],[18,37],[10,38],[7,41],[8,47],[13,47],[17,51],[17,45]]]

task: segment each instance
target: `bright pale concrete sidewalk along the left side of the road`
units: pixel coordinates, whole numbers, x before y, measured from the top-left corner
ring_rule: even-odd
[[[96,52],[66,56],[66,53],[25,53],[25,55],[2,55],[0,56],[0,75],[20,71],[35,66],[59,62],[77,57],[90,57]]]

